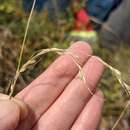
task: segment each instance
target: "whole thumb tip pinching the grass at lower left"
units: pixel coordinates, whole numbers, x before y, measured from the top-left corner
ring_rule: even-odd
[[[26,116],[27,109],[22,102],[0,94],[0,130],[15,130]]]

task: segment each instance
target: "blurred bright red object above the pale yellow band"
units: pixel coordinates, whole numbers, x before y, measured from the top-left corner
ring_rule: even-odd
[[[81,9],[75,14],[75,26],[74,30],[81,31],[93,31],[93,27],[89,18],[89,15],[87,14],[86,10]]]

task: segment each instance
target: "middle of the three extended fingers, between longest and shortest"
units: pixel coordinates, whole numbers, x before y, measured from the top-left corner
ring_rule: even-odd
[[[90,58],[83,68],[87,80],[86,84],[79,77],[76,77],[50,109],[40,118],[34,130],[40,128],[45,130],[70,129],[74,120],[92,96],[88,88],[94,91],[103,70],[104,65],[97,57],[93,56]]]

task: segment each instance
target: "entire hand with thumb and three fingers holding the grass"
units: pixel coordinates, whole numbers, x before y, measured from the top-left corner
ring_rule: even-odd
[[[104,102],[97,84],[105,67],[90,56],[87,43],[77,42],[68,51],[79,57],[86,84],[72,57],[60,56],[15,100],[0,95],[0,130],[96,130]]]

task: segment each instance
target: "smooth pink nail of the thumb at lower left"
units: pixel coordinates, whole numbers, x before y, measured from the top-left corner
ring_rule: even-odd
[[[10,101],[0,101],[0,130],[14,130],[18,125],[20,110]]]

